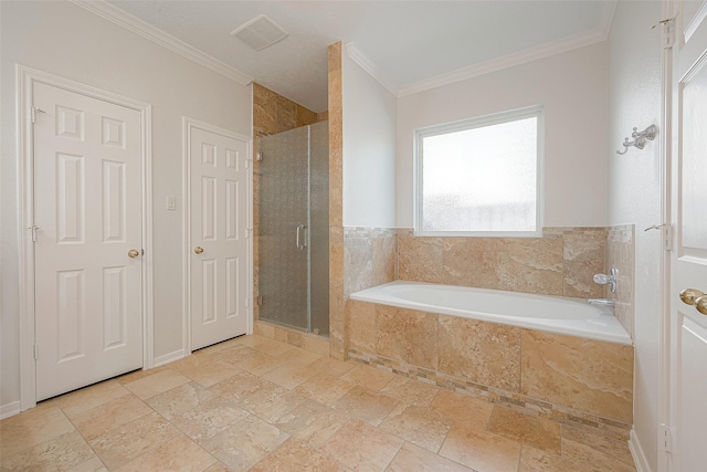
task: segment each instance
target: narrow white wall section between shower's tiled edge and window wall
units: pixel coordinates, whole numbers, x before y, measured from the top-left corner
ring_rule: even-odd
[[[395,227],[397,98],[341,52],[344,225]]]

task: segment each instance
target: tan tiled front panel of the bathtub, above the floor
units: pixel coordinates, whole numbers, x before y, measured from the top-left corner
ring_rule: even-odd
[[[633,347],[349,300],[350,358],[627,439]]]

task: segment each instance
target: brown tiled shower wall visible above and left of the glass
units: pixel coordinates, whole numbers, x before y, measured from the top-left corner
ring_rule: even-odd
[[[260,165],[255,159],[257,153],[257,139],[263,136],[274,135],[300,126],[312,125],[326,119],[326,112],[315,113],[304,106],[285,98],[275,92],[256,83],[253,84],[253,295],[258,294],[260,281]],[[253,307],[254,318],[258,318],[257,305]]]

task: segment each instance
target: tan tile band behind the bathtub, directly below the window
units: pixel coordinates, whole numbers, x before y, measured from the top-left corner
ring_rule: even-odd
[[[599,298],[606,228],[545,228],[542,238],[415,237],[398,230],[398,279]]]

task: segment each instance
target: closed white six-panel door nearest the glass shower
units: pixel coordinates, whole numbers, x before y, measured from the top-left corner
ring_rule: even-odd
[[[191,348],[247,331],[247,143],[189,128]]]

